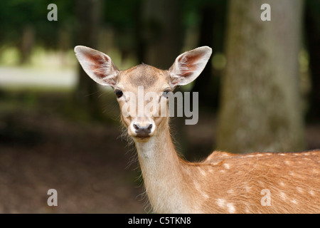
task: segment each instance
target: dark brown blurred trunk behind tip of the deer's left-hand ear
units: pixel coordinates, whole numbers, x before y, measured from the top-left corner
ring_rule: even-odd
[[[76,1],[76,16],[78,25],[77,45],[88,46],[97,49],[99,38],[100,0]],[[93,118],[100,118],[101,111],[97,102],[97,83],[87,76],[80,64],[78,64],[78,87],[75,90],[75,105],[82,107]]]

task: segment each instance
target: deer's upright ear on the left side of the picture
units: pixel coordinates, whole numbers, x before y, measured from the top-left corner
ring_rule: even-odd
[[[119,70],[105,53],[85,46],[75,47],[80,65],[90,78],[102,86],[114,87]]]

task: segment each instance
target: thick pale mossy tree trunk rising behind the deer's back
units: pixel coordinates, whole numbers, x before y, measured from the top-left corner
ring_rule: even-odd
[[[271,6],[271,21],[260,6]],[[303,1],[231,0],[218,150],[304,149],[298,53]]]

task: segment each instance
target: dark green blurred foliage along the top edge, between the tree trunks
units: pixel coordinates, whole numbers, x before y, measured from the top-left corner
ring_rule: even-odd
[[[68,31],[75,36],[78,28],[75,8],[81,0],[1,0],[0,42],[17,46],[25,26],[31,26],[36,33],[36,44],[47,48],[58,48],[60,31]],[[82,0],[84,1],[84,0]],[[139,26],[142,9],[147,0],[105,0],[102,1],[101,26],[111,26],[115,31],[132,36]],[[183,24],[186,27],[198,26],[201,20],[200,9],[206,6],[220,6],[224,0],[183,0]],[[48,4],[58,6],[58,21],[48,21]]]

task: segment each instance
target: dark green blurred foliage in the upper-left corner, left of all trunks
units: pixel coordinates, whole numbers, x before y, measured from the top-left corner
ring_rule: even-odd
[[[58,6],[58,21],[48,21],[48,4]],[[0,4],[0,41],[18,45],[25,26],[36,31],[36,41],[45,46],[57,45],[58,31],[72,27],[74,19],[74,0],[32,1],[1,0]]]

